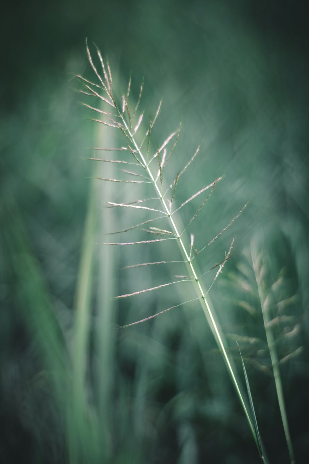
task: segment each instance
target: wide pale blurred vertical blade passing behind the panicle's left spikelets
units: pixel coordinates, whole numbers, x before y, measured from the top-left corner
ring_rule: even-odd
[[[115,76],[114,75],[114,79]],[[95,131],[95,142],[100,144],[104,140],[108,146],[115,144],[114,134],[107,128],[98,125]],[[113,156],[113,153],[111,154]],[[111,161],[111,160],[108,160]],[[96,163],[97,165],[98,163]],[[99,169],[99,166],[95,167]],[[115,165],[108,163],[105,168],[108,175],[114,175]],[[94,181],[95,182],[95,181]],[[112,182],[95,182],[97,198],[115,196],[117,188]],[[109,208],[97,208],[98,227],[96,242],[110,230],[117,227],[114,211]],[[110,462],[113,456],[113,430],[114,430],[114,390],[115,390],[115,319],[117,317],[116,303],[113,299],[116,294],[116,271],[118,263],[118,250],[111,246],[97,246],[98,256],[97,278],[99,284],[96,289],[96,316],[97,323],[94,335],[95,362],[95,388],[99,399],[99,426],[101,438],[102,462]]]

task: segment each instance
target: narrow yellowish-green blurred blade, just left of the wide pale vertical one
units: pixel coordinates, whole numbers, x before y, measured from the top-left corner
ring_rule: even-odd
[[[95,412],[88,405],[87,366],[96,231],[96,194],[92,184],[77,277],[73,350],[73,385],[69,409],[69,462],[99,462],[100,447]]]

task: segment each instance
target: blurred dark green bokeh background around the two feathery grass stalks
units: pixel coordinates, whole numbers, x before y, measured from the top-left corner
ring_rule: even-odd
[[[95,42],[108,55],[116,87],[123,89],[132,71],[136,98],[145,76],[145,114],[153,115],[163,98],[154,142],[164,141],[182,121],[171,175],[204,141],[177,187],[179,204],[224,175],[196,219],[195,245],[202,248],[250,200],[199,265],[205,272],[220,262],[236,237],[233,258],[210,297],[244,385],[235,334],[260,339],[257,348],[245,339],[240,346],[265,449],[278,464],[290,461],[274,381],[269,369],[254,364],[258,355],[262,365],[270,361],[267,350],[257,354],[265,348],[265,331],[248,250],[258,249],[265,258],[267,289],[281,278],[276,303],[290,298],[284,314],[293,317],[297,330],[290,337],[278,331],[277,348],[282,357],[299,348],[281,374],[296,463],[307,463],[307,13],[301,1],[6,2],[0,86],[1,462],[259,462],[197,304],[118,329],[189,298],[177,287],[147,298],[111,300],[168,282],[183,270],[120,271],[162,260],[170,250],[97,245],[109,241],[107,232],[139,219],[103,207],[102,200],[124,201],[124,189],[90,179],[93,169],[101,175],[104,168],[85,160],[92,154],[88,148],[124,142],[89,121],[77,104],[81,84],[74,75],[94,79],[85,53],[88,37],[89,45]],[[183,213],[184,223],[199,203],[195,206]],[[134,237],[143,239],[134,232],[119,241]],[[259,314],[252,318],[240,301]]]

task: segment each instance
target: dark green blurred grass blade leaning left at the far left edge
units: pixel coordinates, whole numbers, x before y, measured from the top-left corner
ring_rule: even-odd
[[[26,231],[24,219],[12,196],[1,192],[1,235],[4,259],[13,274],[13,303],[31,334],[33,344],[51,376],[60,408],[68,387],[68,353]]]

